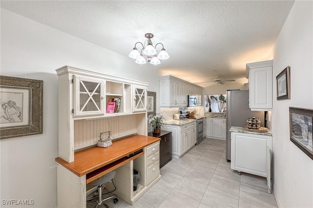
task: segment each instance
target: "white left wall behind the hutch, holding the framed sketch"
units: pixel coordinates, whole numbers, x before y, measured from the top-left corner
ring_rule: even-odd
[[[148,90],[158,92],[158,71],[154,67],[138,65],[127,55],[1,8],[1,75],[44,81],[44,133],[0,141],[1,207],[6,207],[2,205],[3,199],[34,200],[34,205],[27,207],[57,206],[54,159],[58,157],[58,77],[55,69],[64,65],[148,82]]]

